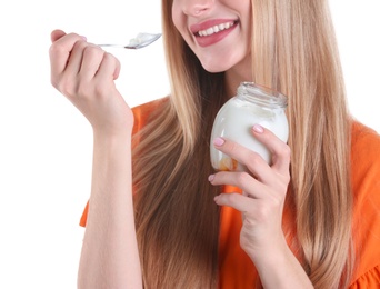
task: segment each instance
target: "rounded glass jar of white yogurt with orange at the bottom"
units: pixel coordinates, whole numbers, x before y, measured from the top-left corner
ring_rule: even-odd
[[[213,139],[222,137],[233,140],[258,152],[271,163],[269,150],[252,134],[253,124],[260,124],[287,142],[289,137],[286,108],[288,98],[277,91],[253,82],[241,82],[237,96],[228,100],[219,110],[211,132],[211,163],[216,170],[244,171],[246,166],[217,150]]]

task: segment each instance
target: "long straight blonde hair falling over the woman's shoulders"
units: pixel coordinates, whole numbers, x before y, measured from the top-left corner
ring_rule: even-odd
[[[146,288],[214,288],[218,188],[209,136],[227,100],[176,30],[162,0],[171,94],[137,136],[136,221]],[[350,121],[326,0],[252,0],[253,80],[289,96],[294,251],[316,288],[347,287],[351,241]],[[166,37],[168,36],[168,37]]]

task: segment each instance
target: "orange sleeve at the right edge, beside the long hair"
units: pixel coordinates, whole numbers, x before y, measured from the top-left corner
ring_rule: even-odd
[[[350,288],[380,288],[380,136],[358,122],[351,166],[356,271]]]

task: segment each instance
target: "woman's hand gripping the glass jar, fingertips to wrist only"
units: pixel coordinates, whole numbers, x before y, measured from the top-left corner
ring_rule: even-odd
[[[212,185],[232,185],[243,193],[221,193],[216,197],[219,206],[232,207],[242,213],[241,248],[253,262],[269,258],[287,247],[282,232],[282,211],[290,181],[290,148],[271,131],[254,126],[253,136],[272,155],[269,166],[258,153],[231,140],[216,139],[218,150],[248,168],[248,172],[220,171],[209,177]]]

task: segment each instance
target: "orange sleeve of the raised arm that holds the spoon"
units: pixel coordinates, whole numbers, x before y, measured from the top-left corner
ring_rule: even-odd
[[[167,98],[158,99],[158,100],[153,100],[153,101],[132,108],[132,112],[134,116],[134,124],[133,124],[132,134],[136,134],[147,124],[150,113],[153,112],[156,109],[158,109],[158,107],[162,104],[166,100]],[[89,212],[89,205],[90,205],[90,201],[86,203],[86,207],[83,209],[82,216],[79,221],[79,225],[82,227],[86,227],[87,215]]]

